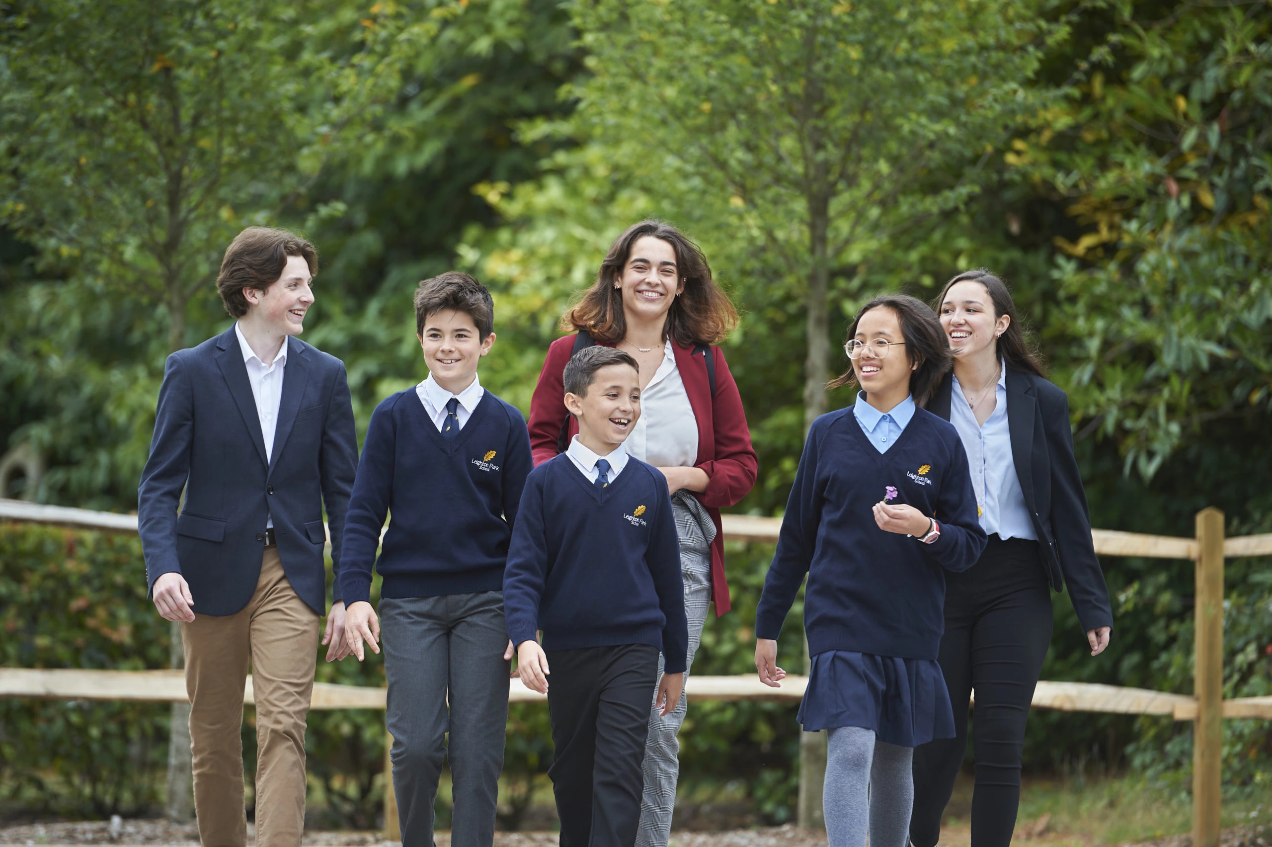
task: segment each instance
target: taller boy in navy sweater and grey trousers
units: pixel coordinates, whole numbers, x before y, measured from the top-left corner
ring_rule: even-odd
[[[415,313],[429,378],[382,402],[366,430],[345,529],[345,632],[359,661],[364,641],[379,652],[380,621],[369,603],[379,547],[402,843],[434,843],[432,805],[448,755],[450,843],[490,847],[513,655],[504,565],[530,441],[522,413],[477,380],[477,364],[495,342],[485,286],[454,271],[425,280]]]

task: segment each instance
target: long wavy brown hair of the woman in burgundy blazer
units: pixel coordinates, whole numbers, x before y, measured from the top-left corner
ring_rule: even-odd
[[[678,229],[660,220],[642,220],[628,226],[605,253],[597,281],[583,299],[561,317],[562,332],[586,331],[602,343],[617,343],[627,334],[623,317],[623,293],[614,287],[631,256],[632,244],[650,235],[667,242],[675,251],[675,272],[684,281],[684,291],[672,300],[667,313],[665,337],[682,347],[696,342],[716,345],[738,326],[738,310],[714,279],[711,266],[698,245]]]

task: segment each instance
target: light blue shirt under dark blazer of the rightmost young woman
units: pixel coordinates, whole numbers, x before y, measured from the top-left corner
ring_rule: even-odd
[[[963,439],[972,488],[976,491],[981,529],[999,538],[1025,538],[1037,541],[1025,493],[1016,477],[1016,463],[1011,457],[1011,432],[1007,429],[1007,369],[1002,366],[999,384],[993,389],[993,412],[985,425],[976,422],[972,407],[967,404],[963,387],[954,378],[950,392],[950,424]]]

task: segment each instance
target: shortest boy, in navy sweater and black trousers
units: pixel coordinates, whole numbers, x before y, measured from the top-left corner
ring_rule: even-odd
[[[640,417],[636,360],[588,347],[563,382],[579,435],[525,482],[504,574],[508,632],[522,682],[548,696],[561,847],[632,847],[650,691],[667,715],[684,682],[679,542],[665,477],[623,450]]]

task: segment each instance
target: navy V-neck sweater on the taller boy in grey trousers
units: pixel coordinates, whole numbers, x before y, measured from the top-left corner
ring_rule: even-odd
[[[532,467],[525,418],[488,389],[453,440],[429,420],[413,387],[385,398],[371,413],[349,501],[345,602],[370,596],[377,547],[382,596],[500,590]]]

